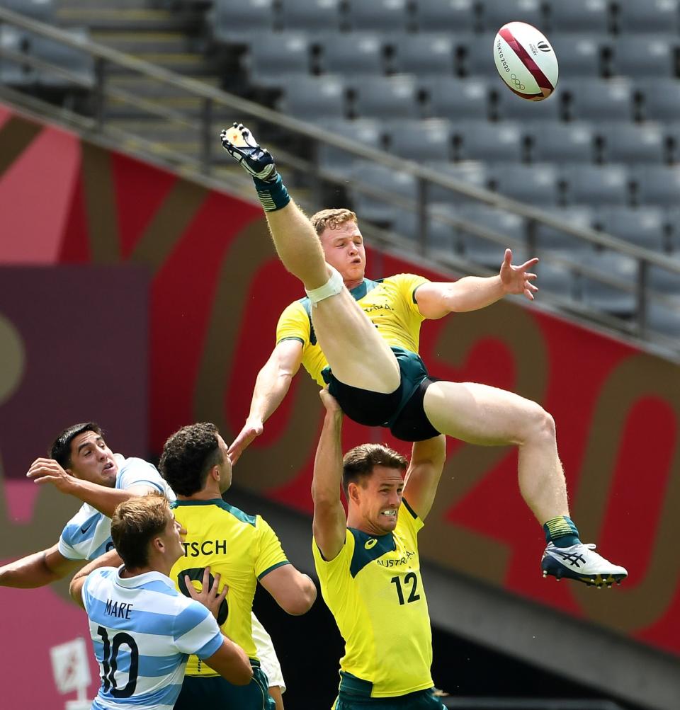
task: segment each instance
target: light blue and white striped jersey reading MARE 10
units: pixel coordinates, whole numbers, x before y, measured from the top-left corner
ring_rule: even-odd
[[[210,611],[165,574],[123,578],[122,569],[95,569],[82,586],[102,677],[92,709],[171,710],[189,654],[210,657],[224,637]]]

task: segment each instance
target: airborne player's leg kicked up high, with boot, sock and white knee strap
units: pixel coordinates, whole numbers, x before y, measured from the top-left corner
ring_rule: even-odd
[[[314,331],[334,376],[352,387],[386,394],[394,392],[400,380],[394,353],[342,285],[342,278],[325,262],[311,222],[288,197],[285,188],[283,195],[282,184],[277,186],[276,180],[280,182],[280,178],[271,155],[257,145],[241,124],[222,131],[222,145],[256,178],[276,251],[286,269],[302,281],[313,301]],[[273,187],[267,194],[266,184],[261,183],[272,178]],[[279,206],[277,201],[285,201],[285,204]],[[269,204],[272,209],[268,209]],[[333,278],[340,278],[337,288],[331,284]],[[320,296],[320,300],[314,302],[314,294],[327,286],[329,295]]]

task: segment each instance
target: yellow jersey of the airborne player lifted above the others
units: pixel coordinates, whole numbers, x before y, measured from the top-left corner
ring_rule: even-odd
[[[418,310],[415,291],[423,283],[428,283],[423,276],[399,273],[379,281],[365,278],[350,293],[389,345],[417,353],[425,318]],[[328,361],[316,342],[308,298],[294,301],[281,313],[276,342],[291,338],[302,343],[302,364],[306,371],[325,387],[321,371]]]

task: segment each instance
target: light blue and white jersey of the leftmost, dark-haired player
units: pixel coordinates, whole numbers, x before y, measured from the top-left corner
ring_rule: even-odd
[[[115,487],[125,490],[145,485],[163,493],[169,501],[175,500],[175,494],[156,471],[156,466],[144,459],[124,459],[116,475]],[[59,552],[68,559],[95,559],[112,549],[111,518],[83,503],[59,537]]]

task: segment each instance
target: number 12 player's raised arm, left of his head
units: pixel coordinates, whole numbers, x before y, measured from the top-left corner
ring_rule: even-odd
[[[345,509],[340,501],[342,411],[327,390],[322,390],[320,396],[326,408],[326,415],[314,459],[312,530],[315,544],[324,559],[331,560],[342,550],[347,530]]]

